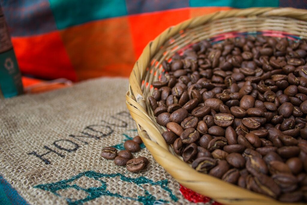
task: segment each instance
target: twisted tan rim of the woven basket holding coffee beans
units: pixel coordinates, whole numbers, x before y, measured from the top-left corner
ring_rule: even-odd
[[[274,200],[273,198],[267,197],[265,195],[257,194],[255,192],[243,189],[239,186],[224,182],[213,176],[197,172],[192,169],[187,163],[183,162],[171,152],[169,152],[168,145],[162,138],[160,131],[155,127],[153,121],[148,116],[146,110],[146,101],[141,89],[142,79],[146,74],[146,67],[149,65],[151,58],[159,50],[160,46],[165,43],[170,37],[177,34],[180,30],[185,30],[188,28],[194,28],[205,23],[211,22],[217,19],[231,18],[231,17],[287,17],[296,20],[301,20],[307,22],[307,10],[294,9],[294,8],[249,8],[249,9],[232,9],[228,11],[218,11],[212,14],[202,15],[199,17],[194,17],[188,19],[184,22],[177,24],[176,26],[171,26],[158,35],[153,41],[150,41],[144,48],[142,54],[134,64],[133,70],[129,77],[129,91],[126,94],[126,105],[130,111],[132,118],[136,121],[138,132],[150,151],[155,160],[165,168],[168,173],[170,173],[174,179],[179,183],[196,191],[202,195],[212,197],[217,202],[223,204],[285,204]],[[150,140],[149,136],[161,136],[161,138],[155,138],[155,141]],[[171,159],[171,160],[167,160]],[[172,170],[169,164],[178,167],[180,169],[176,171]],[[187,180],[182,177],[182,174],[192,175],[193,179]],[[191,177],[191,176],[190,176]],[[198,180],[201,179],[201,180]],[[239,194],[228,195],[229,197],[221,197],[218,195],[208,195],[206,191],[201,189],[200,183],[209,182],[218,186],[218,193],[223,193],[223,191],[234,191],[240,192]],[[212,187],[211,187],[212,188]],[[303,204],[303,203],[287,203],[287,204]]]

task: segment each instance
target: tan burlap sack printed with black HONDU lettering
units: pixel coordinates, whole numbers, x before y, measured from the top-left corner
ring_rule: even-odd
[[[134,156],[150,164],[138,173],[101,157],[137,135],[127,87],[104,78],[0,101],[0,175],[29,204],[190,203],[144,145]]]

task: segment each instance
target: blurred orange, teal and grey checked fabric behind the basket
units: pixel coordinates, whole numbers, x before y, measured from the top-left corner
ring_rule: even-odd
[[[306,0],[0,0],[23,83],[129,77],[146,44],[188,18]]]

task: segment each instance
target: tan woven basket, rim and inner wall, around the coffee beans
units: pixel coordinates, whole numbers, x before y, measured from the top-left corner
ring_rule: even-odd
[[[170,60],[174,53],[204,39],[219,42],[251,34],[292,40],[307,38],[307,11],[292,8],[229,10],[192,18],[170,27],[151,41],[136,61],[129,79],[126,104],[154,159],[183,186],[222,204],[285,204],[191,168],[165,143],[161,133],[166,128],[156,123],[148,103],[153,92],[151,83],[158,81],[164,72],[163,60]]]

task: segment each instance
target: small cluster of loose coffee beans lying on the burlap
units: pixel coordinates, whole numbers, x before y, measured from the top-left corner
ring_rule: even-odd
[[[138,152],[140,144],[142,144],[140,136],[135,136],[132,140],[127,140],[124,143],[126,150],[121,150],[117,153],[114,147],[105,147],[102,149],[101,156],[107,160],[114,160],[114,164],[118,166],[126,166],[130,172],[137,172],[143,170],[149,161],[146,157],[133,158],[131,152]]]

